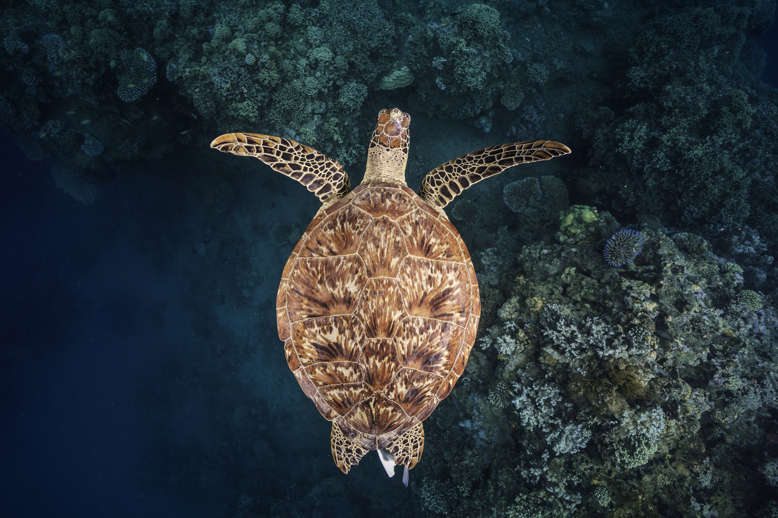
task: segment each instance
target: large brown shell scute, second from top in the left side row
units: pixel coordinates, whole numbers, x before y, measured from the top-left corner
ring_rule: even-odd
[[[292,322],[345,315],[356,309],[367,281],[359,256],[298,259],[289,275],[286,307]]]

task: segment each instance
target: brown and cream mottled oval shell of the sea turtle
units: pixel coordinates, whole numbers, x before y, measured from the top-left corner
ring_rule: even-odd
[[[363,184],[317,214],[277,298],[289,368],[321,415],[375,450],[433,412],[481,314],[456,228],[405,186]]]

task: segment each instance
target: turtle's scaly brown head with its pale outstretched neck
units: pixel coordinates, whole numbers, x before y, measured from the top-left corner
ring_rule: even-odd
[[[408,162],[408,127],[411,116],[399,108],[381,110],[378,123],[367,148],[367,168],[362,183],[397,183],[405,186],[405,163]]]

